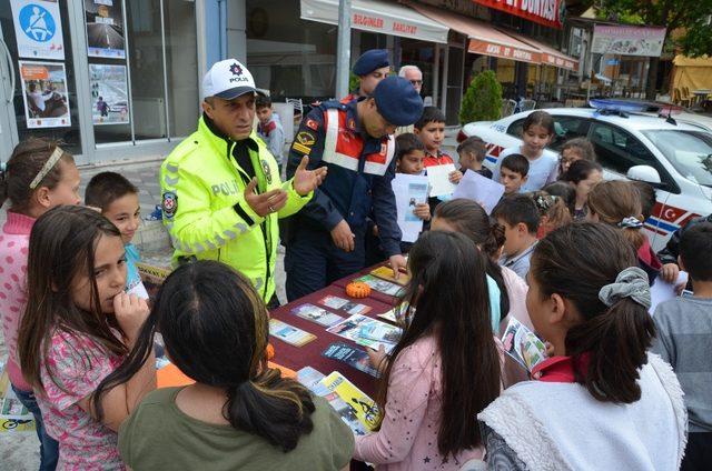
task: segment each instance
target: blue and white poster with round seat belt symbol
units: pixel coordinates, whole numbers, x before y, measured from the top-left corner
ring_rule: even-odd
[[[65,38],[58,0],[11,0],[18,54],[65,60]]]

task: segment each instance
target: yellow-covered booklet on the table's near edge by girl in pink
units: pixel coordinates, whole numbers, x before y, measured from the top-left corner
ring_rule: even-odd
[[[370,432],[378,421],[378,407],[342,373],[334,371],[320,382],[330,394],[325,399],[357,435]]]

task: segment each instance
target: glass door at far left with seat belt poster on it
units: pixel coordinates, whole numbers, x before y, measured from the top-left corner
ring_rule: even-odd
[[[81,156],[67,1],[0,0],[0,37],[2,151],[46,138]]]

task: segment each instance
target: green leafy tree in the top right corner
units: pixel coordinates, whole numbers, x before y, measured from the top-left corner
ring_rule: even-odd
[[[712,0],[599,0],[596,7],[599,16],[609,20],[668,28],[665,40],[685,56],[712,56]],[[682,34],[673,39],[675,30]],[[645,92],[649,99],[656,94],[659,63],[660,58],[651,58]]]

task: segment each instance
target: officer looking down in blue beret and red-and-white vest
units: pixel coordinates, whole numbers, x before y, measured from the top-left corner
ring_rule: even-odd
[[[389,77],[373,97],[346,104],[320,103],[301,121],[289,151],[287,174],[306,156],[310,169],[329,177],[293,218],[287,242],[287,299],[295,300],[364,268],[366,217],[373,213],[394,270],[405,268],[390,188],[398,126],[415,122],[423,100],[411,82]],[[372,212],[373,210],[373,212]]]

